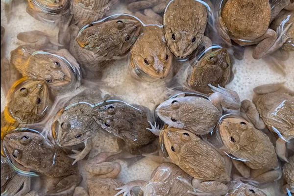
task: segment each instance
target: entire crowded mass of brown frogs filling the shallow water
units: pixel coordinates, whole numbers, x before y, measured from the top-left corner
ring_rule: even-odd
[[[1,58],[1,195],[135,196],[140,187],[140,196],[273,196],[265,188],[279,181],[275,193],[291,196],[294,92],[267,84],[241,101],[226,84],[233,79],[231,46],[256,45],[255,59],[294,50],[294,2],[121,1],[28,0],[26,11],[59,23],[59,32],[19,33],[26,43],[10,61]],[[112,15],[119,6],[125,13]],[[212,45],[212,25],[220,46]],[[4,33],[1,26],[1,44]],[[121,58],[129,59],[134,81],[170,89],[154,110],[87,88]],[[179,74],[184,82],[173,89]],[[98,133],[115,138],[120,150],[89,158]],[[149,181],[124,184],[118,160],[130,157],[160,165]],[[42,178],[41,188],[33,176]]]

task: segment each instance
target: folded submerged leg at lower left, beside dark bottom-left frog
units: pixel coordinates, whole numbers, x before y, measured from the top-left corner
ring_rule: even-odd
[[[121,164],[117,162],[106,162],[106,160],[118,152],[100,152],[85,165],[85,170],[91,174],[98,175],[98,178],[115,178],[122,170]]]

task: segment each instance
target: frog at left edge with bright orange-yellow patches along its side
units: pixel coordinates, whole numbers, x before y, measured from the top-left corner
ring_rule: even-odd
[[[25,78],[14,83],[6,100],[1,113],[1,141],[16,128],[40,122],[52,106],[46,83]]]

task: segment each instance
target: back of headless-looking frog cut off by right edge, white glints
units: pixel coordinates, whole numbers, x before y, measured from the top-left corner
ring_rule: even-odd
[[[253,98],[260,117],[273,131],[294,136],[294,98],[281,93],[270,93]]]

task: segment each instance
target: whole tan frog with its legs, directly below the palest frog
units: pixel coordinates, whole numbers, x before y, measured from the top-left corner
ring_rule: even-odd
[[[153,132],[153,131],[152,131]],[[193,188],[193,195],[222,196],[228,193],[224,184],[230,181],[232,163],[226,156],[194,133],[167,127],[159,132],[159,140],[168,157],[144,154],[157,162],[171,162],[194,179],[179,179]]]

